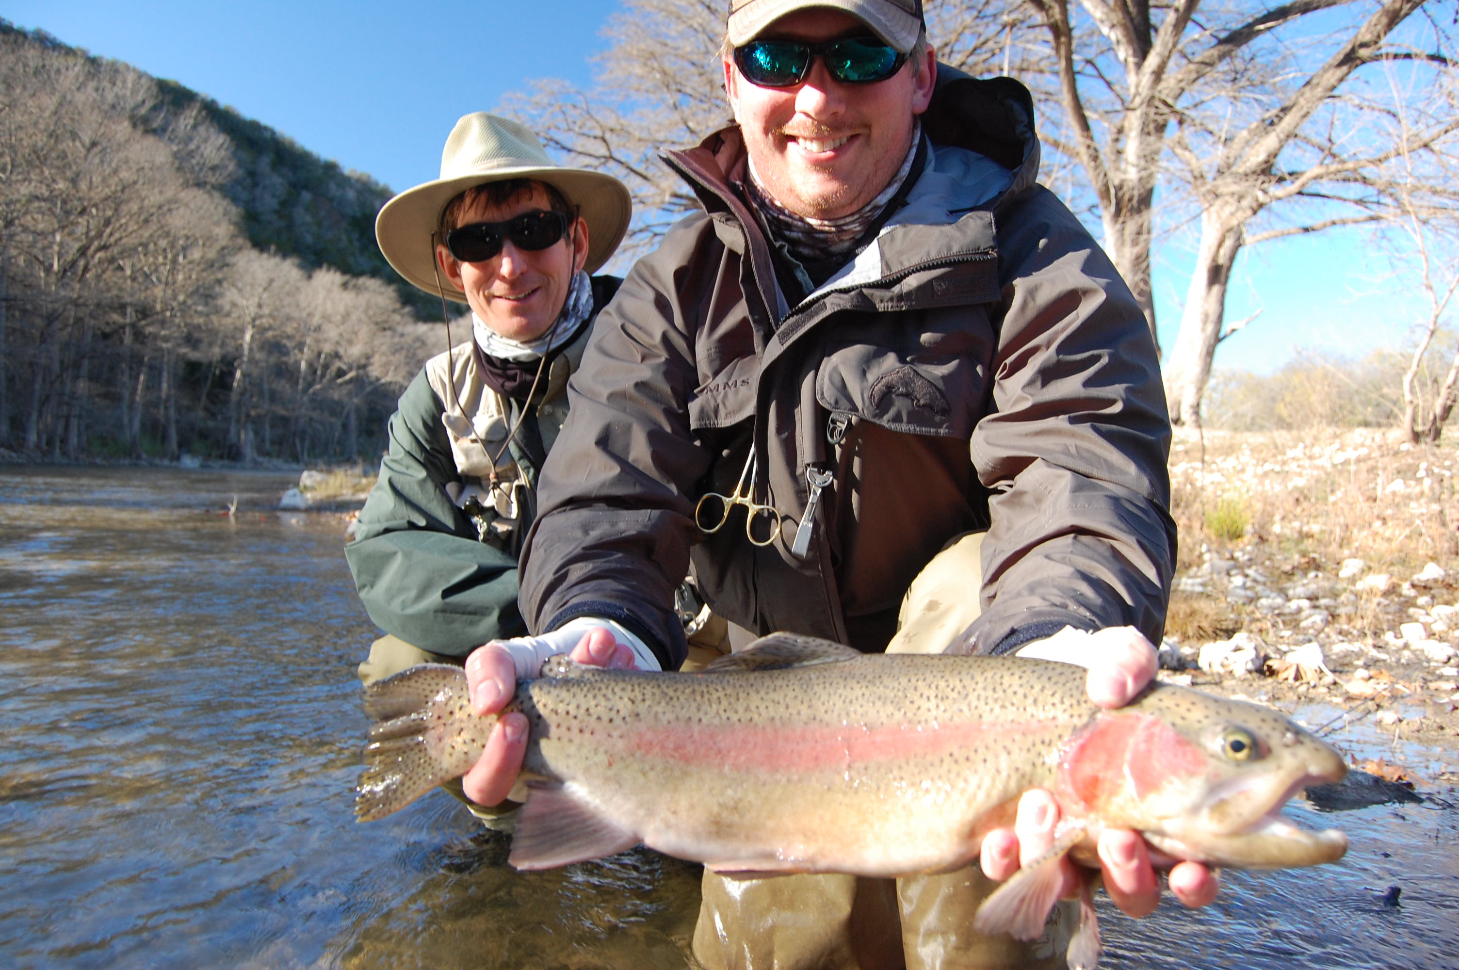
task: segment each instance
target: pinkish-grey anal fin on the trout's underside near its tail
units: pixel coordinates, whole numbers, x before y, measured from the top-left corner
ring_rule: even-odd
[[[562,782],[528,782],[506,858],[518,869],[550,869],[632,849],[639,837],[584,805]]]

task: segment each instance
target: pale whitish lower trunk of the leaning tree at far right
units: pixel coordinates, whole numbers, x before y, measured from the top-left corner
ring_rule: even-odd
[[[1201,216],[1201,248],[1180,314],[1180,331],[1166,366],[1166,404],[1170,420],[1177,424],[1201,426],[1201,398],[1211,378],[1215,346],[1221,340],[1226,287],[1240,249],[1242,222],[1207,210]]]

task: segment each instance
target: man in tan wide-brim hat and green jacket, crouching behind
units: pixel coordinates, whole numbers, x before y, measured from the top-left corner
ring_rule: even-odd
[[[516,563],[537,474],[568,414],[568,376],[620,282],[589,274],[630,214],[616,178],[557,165],[528,128],[484,112],[457,123],[441,178],[381,209],[385,258],[432,296],[467,303],[471,333],[401,395],[344,550],[387,632],[360,664],[366,684],[527,632]],[[616,662],[659,668],[652,653]]]

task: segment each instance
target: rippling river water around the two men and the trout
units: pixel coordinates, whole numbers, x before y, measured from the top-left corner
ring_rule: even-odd
[[[439,794],[353,821],[376,632],[340,518],[274,509],[292,478],[0,467],[0,967],[689,966],[697,866],[519,874]],[[1102,966],[1459,967],[1459,796],[1431,795],[1293,808],[1347,859],[1207,910],[1102,903]]]

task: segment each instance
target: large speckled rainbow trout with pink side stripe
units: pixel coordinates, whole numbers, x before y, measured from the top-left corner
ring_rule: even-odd
[[[1106,710],[1084,678],[1069,664],[864,655],[789,635],[699,674],[553,658],[514,702],[531,728],[509,861],[541,869],[642,842],[719,872],[940,872],[976,861],[1018,796],[1045,788],[1064,815],[1053,847],[975,926],[1036,938],[1068,853],[1088,866],[1069,964],[1093,967],[1104,827],[1138,830],[1167,864],[1287,868],[1347,850],[1342,833],[1278,814],[1347,773],[1328,744],[1266,707],[1169,684]],[[471,710],[465,675],[446,665],[372,684],[365,705],[376,723],[360,821],[465,773],[496,721]]]

